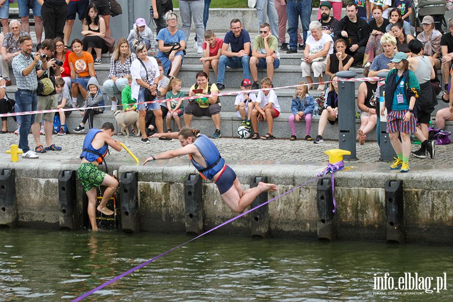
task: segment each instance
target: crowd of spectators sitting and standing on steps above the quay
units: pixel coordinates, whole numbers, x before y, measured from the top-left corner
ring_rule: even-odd
[[[258,0],[258,31],[253,42],[239,19],[230,22],[230,31],[223,39],[212,30],[206,30],[210,1],[180,0],[182,30],[177,29],[178,17],[172,11],[171,1],[152,1],[156,36],[143,18],[138,18],[126,38],[120,38],[112,47],[110,37],[110,8],[107,0],[18,0],[19,17],[8,23],[8,1],[0,8],[4,34],[0,34],[0,112],[45,110],[82,107],[82,120],[74,132],[93,128],[97,114],[104,112],[106,98],[111,100],[111,110],[138,111],[141,142],[149,142],[153,132],[171,132],[172,118],[181,129],[181,117],[190,127],[192,117],[208,116],[212,119],[214,133],[220,133],[220,97],[199,97],[216,94],[225,89],[226,67],[241,68],[243,79],[239,89],[270,89],[240,93],[235,110],[242,120],[241,126],[249,129],[252,139],[271,140],[273,119],[280,113],[278,91],[274,91],[274,70],[280,66],[280,52],[297,56],[300,53],[300,70],[306,81],[297,84],[289,116],[290,140],[296,140],[295,122],[306,122],[306,140],[323,142],[328,123],[338,121],[338,77],[336,73],[351,67],[364,68],[364,77],[375,77],[387,71],[385,108],[379,112],[377,83],[363,82],[357,95],[360,110],[360,128],[357,140],[363,144],[366,135],[377,125],[379,115],[387,115],[387,132],[398,159],[391,169],[409,171],[410,134],[420,140],[421,148],[412,155],[433,158],[435,144],[429,140],[431,113],[442,91],[442,100],[449,108],[436,113],[436,126],[444,131],[444,121],[453,120],[453,94],[450,96],[450,74],[453,62],[453,20],[449,32],[442,33],[436,16],[421,16],[420,27],[411,29],[409,16],[414,8],[408,0],[380,0],[349,2],[346,16],[340,18],[341,1],[322,2],[318,18],[310,20],[313,10],[309,0],[282,1]],[[30,6],[34,3],[32,7]],[[286,7],[286,8],[284,8]],[[30,37],[27,12],[33,8],[36,52]],[[78,14],[82,32],[69,45],[71,28]],[[443,18],[443,17],[442,17]],[[268,19],[268,22],[266,22]],[[299,32],[299,19],[302,32]],[[196,33],[194,48],[201,55],[202,71],[195,75],[195,84],[189,89],[189,101],[175,101],[183,96],[178,73],[184,63],[190,44],[190,27],[194,22]],[[417,25],[417,24],[416,24]],[[286,26],[289,41],[286,42]],[[42,40],[44,28],[45,39]],[[42,41],[41,41],[42,40]],[[101,64],[101,54],[112,52],[108,80],[98,83],[96,65]],[[8,99],[5,88],[12,84],[9,66],[12,66],[17,83],[14,101]],[[215,83],[209,82],[209,70],[216,75]],[[258,70],[265,70],[266,77],[259,79]],[[429,72],[428,72],[429,70]],[[440,87],[437,70],[441,70],[444,86]],[[324,73],[330,81],[324,81]],[[315,79],[313,79],[313,76]],[[327,78],[326,77],[326,78]],[[389,82],[390,81],[390,82]],[[239,81],[238,81],[239,82]],[[318,83],[315,83],[318,82]],[[328,82],[325,85],[324,82]],[[102,89],[101,85],[102,84]],[[236,86],[228,83],[226,86]],[[319,92],[312,96],[313,89]],[[121,94],[117,99],[116,94]],[[84,103],[79,104],[79,95]],[[164,102],[144,102],[166,100]],[[58,113],[58,135],[68,133],[65,120],[71,111]],[[73,114],[78,114],[74,111]],[[310,136],[312,116],[320,115],[317,136]],[[340,115],[341,116],[341,115]],[[20,134],[19,147],[24,158],[38,158],[39,153],[60,150],[52,143],[54,114],[26,115],[17,118]],[[340,117],[341,118],[341,117]],[[2,133],[6,133],[6,118]],[[259,135],[257,123],[263,119],[268,131]],[[42,126],[41,126],[42,125]],[[32,130],[35,148],[28,144]],[[41,143],[39,135],[45,134]],[[118,135],[122,135],[119,132]],[[137,133],[138,134],[138,133]],[[401,137],[401,140],[399,139]],[[169,140],[165,135],[161,140]],[[379,138],[378,138],[379,143]],[[409,146],[409,147],[408,147]]]

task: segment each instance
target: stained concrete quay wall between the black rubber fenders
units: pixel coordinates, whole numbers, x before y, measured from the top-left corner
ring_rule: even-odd
[[[2,163],[16,170],[18,226],[59,228],[58,173],[77,170],[78,163]],[[278,185],[274,198],[316,177],[322,163],[273,165],[273,162],[230,164],[243,189],[251,177],[268,176]],[[351,164],[346,164],[351,166]],[[352,166],[354,166],[352,164]],[[109,171],[138,172],[140,229],[143,232],[184,233],[183,177],[196,173],[187,161],[172,160],[154,166],[109,164]],[[335,173],[336,237],[339,240],[386,240],[385,182],[404,182],[404,223],[407,242],[453,244],[453,172],[448,167],[417,173],[397,173],[378,165],[354,166]],[[78,195],[83,191],[78,190]],[[81,200],[81,196],[78,196]],[[204,231],[235,217],[222,201],[214,183],[203,181]],[[86,209],[79,206],[81,216]],[[1,213],[0,213],[1,217]],[[250,235],[251,216],[245,215],[214,231],[216,234]],[[269,203],[271,237],[317,238],[317,181]]]

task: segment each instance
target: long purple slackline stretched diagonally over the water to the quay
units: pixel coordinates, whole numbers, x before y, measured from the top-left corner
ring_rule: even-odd
[[[337,164],[338,164],[338,163],[337,163]],[[329,165],[330,165],[330,164],[329,164]],[[324,170],[324,171],[325,171],[325,170]],[[332,175],[333,175],[333,174],[332,174]],[[322,176],[322,175],[321,175],[321,176]],[[122,273],[121,275],[119,275],[119,276],[113,278],[113,279],[110,280],[110,281],[105,282],[104,284],[99,285],[98,287],[96,287],[96,288],[90,290],[89,292],[87,292],[87,293],[81,295],[80,297],[73,299],[71,302],[78,302],[78,301],[82,300],[83,298],[88,297],[89,295],[91,295],[92,293],[98,291],[99,289],[104,288],[105,286],[109,285],[110,283],[113,283],[113,282],[115,282],[116,280],[121,279],[122,277],[124,277],[124,276],[130,274],[130,273],[133,272],[133,271],[136,271],[137,269],[139,269],[139,268],[145,266],[146,264],[149,264],[149,263],[153,262],[154,260],[161,258],[162,256],[164,256],[164,255],[166,255],[166,254],[168,254],[168,253],[170,253],[170,252],[176,250],[177,248],[182,247],[183,245],[188,244],[189,242],[194,241],[195,239],[200,238],[200,237],[203,236],[203,235],[206,235],[206,234],[208,234],[208,233],[211,233],[211,232],[214,231],[214,230],[217,230],[218,228],[220,228],[220,226],[223,226],[223,225],[225,225],[225,224],[228,224],[228,223],[230,223],[230,222],[232,222],[232,221],[238,219],[239,217],[242,217],[242,216],[244,216],[244,215],[246,215],[246,214],[248,214],[248,213],[250,213],[250,212],[256,210],[257,208],[260,208],[260,207],[262,207],[263,205],[268,204],[269,202],[271,202],[271,201],[273,201],[273,200],[275,200],[275,199],[277,199],[277,198],[279,198],[279,197],[281,197],[281,196],[283,196],[283,195],[286,195],[286,194],[288,194],[289,192],[294,191],[295,189],[298,189],[298,188],[300,188],[300,187],[303,187],[303,186],[305,186],[306,184],[309,184],[309,183],[311,183],[312,181],[317,180],[317,179],[320,178],[321,176],[318,175],[317,178],[314,178],[314,179],[312,179],[311,181],[308,181],[308,182],[306,182],[306,183],[303,184],[303,185],[300,185],[300,186],[298,186],[298,187],[295,187],[294,189],[289,190],[289,191],[286,192],[286,193],[283,193],[283,194],[281,194],[281,195],[279,195],[279,196],[277,196],[277,197],[275,197],[275,198],[272,198],[271,200],[268,200],[268,201],[266,201],[265,203],[262,203],[262,204],[260,204],[260,205],[258,205],[258,206],[256,206],[256,207],[254,207],[253,209],[250,209],[250,210],[248,210],[247,212],[244,212],[244,213],[242,213],[242,214],[240,214],[240,215],[238,215],[238,216],[236,216],[236,217],[234,217],[234,218],[231,218],[230,220],[225,221],[225,222],[223,222],[223,223],[220,224],[220,225],[217,225],[215,228],[213,228],[213,229],[211,229],[211,230],[209,230],[209,231],[207,231],[207,232],[204,232],[203,234],[198,235],[197,237],[195,237],[195,238],[193,238],[193,239],[191,239],[191,240],[189,240],[189,241],[187,241],[187,242],[185,242],[185,243],[183,243],[183,244],[181,244],[181,245],[179,245],[179,246],[177,246],[177,247],[175,247],[175,248],[173,248],[173,249],[171,249],[171,250],[169,250],[169,251],[167,251],[167,252],[165,252],[165,253],[163,253],[163,254],[157,256],[157,257],[154,257],[154,258],[151,259],[151,260],[148,260],[148,261],[146,261],[146,262],[143,262],[142,264],[140,264],[140,265],[138,265],[138,266],[136,266],[136,267],[134,267],[134,268],[128,270],[128,271],[125,272],[125,273]],[[333,176],[332,176],[332,177],[333,177]],[[332,187],[333,187],[333,184],[332,184]]]

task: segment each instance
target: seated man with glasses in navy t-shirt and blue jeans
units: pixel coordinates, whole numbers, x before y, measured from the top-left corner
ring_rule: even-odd
[[[230,22],[230,29],[223,39],[222,55],[218,59],[217,88],[225,89],[223,85],[225,79],[225,68],[243,68],[244,79],[251,79],[250,75],[250,36],[242,29],[241,21],[233,19]],[[231,44],[231,51],[228,47]]]

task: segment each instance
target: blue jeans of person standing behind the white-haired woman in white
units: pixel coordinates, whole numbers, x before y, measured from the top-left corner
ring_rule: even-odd
[[[286,17],[288,18],[288,35],[289,47],[297,50],[297,27],[300,22],[302,23],[302,30],[304,33],[304,46],[307,42],[307,32],[310,27],[310,17],[312,14],[312,1],[311,0],[288,0],[286,3]]]

